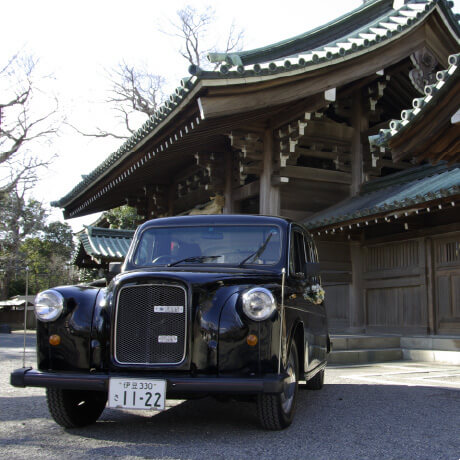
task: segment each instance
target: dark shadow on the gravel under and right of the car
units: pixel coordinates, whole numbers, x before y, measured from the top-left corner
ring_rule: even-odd
[[[252,454],[257,448],[276,449],[289,440],[291,452],[307,453],[313,448],[318,457],[338,458],[357,452],[361,458],[385,458],[381,446],[392,446],[390,457],[395,458],[399,439],[404,446],[400,457],[409,445],[423,454],[420,458],[440,458],[440,446],[452,447],[458,438],[455,424],[433,432],[433,419],[458,420],[459,402],[460,392],[433,387],[331,384],[322,391],[301,390],[294,423],[284,431],[263,431],[254,403],[222,403],[214,398],[186,401],[154,415],[106,409],[95,425],[67,431],[129,443],[119,455],[134,455],[137,446],[145,444],[161,446],[164,455],[167,446],[186,448],[199,439],[205,450],[223,443]]]

